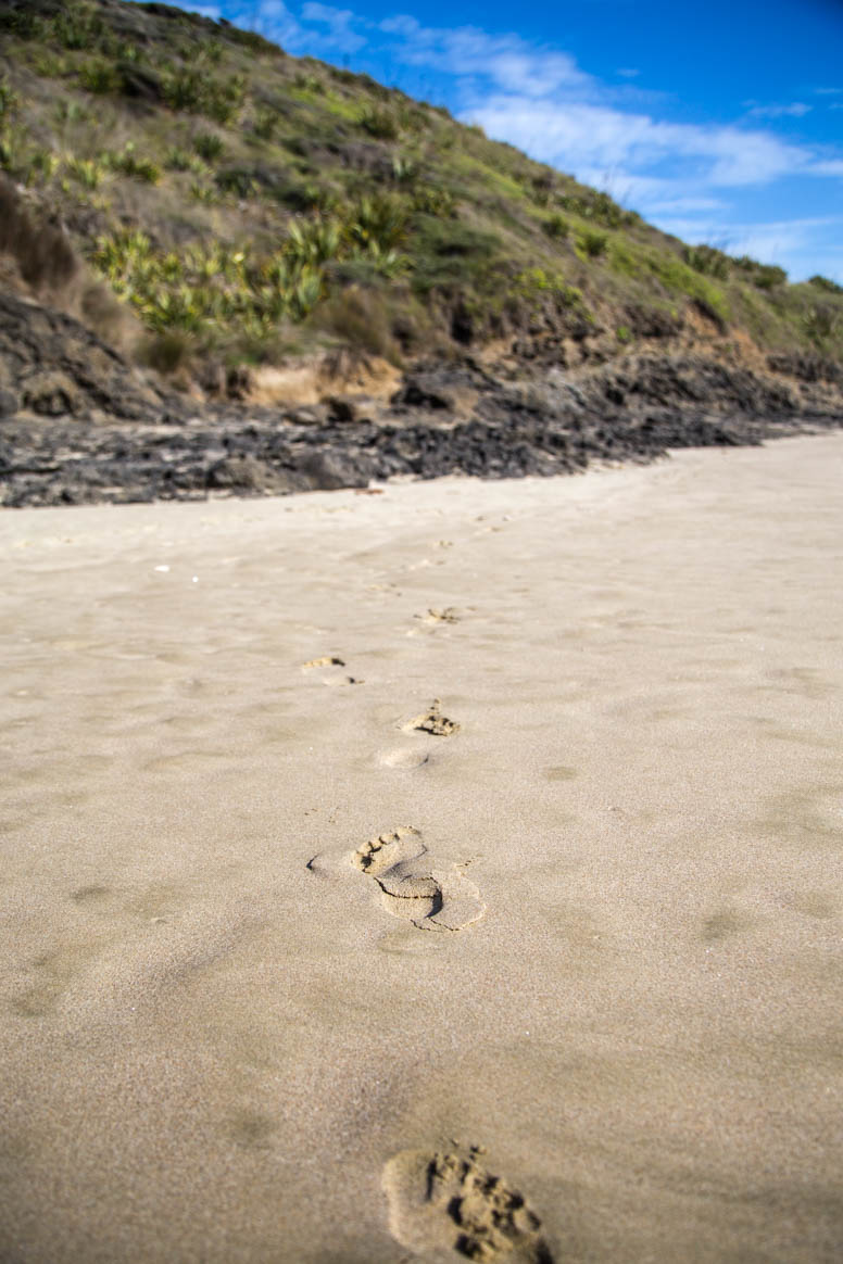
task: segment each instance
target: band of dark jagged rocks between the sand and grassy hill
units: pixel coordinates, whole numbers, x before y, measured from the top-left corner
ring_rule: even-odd
[[[387,402],[198,403],[145,379],[71,316],[0,295],[0,503],[550,475],[842,425],[833,374],[801,362],[787,369],[762,374],[682,351],[503,374],[466,356],[420,365]]]

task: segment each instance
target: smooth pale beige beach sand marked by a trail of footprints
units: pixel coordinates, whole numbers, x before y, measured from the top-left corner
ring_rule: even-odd
[[[0,1259],[843,1255],[843,436],[0,513]]]

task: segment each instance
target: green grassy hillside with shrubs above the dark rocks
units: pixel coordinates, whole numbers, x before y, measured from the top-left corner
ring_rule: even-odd
[[[575,367],[682,330],[843,360],[842,287],[686,246],[367,76],[163,4],[8,0],[0,37],[0,168],[161,368],[337,344]]]

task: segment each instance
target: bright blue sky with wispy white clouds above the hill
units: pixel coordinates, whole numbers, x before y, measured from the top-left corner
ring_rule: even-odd
[[[843,283],[843,0],[197,0],[605,188],[688,241]]]

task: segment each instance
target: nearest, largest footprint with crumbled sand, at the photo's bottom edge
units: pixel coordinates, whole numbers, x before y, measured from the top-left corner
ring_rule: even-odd
[[[418,1254],[554,1264],[541,1218],[523,1194],[459,1152],[402,1150],[383,1169],[392,1236]]]

